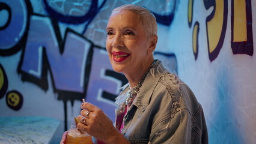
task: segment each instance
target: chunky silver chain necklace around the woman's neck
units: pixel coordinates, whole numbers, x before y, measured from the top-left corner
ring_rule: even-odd
[[[127,94],[127,97],[126,97],[126,104],[127,106],[130,106],[132,105],[132,102],[133,100],[135,99],[136,95],[138,94],[139,92],[139,88],[141,88],[141,85],[142,83],[144,82],[145,80],[145,77],[147,76],[148,74],[148,71],[150,70],[150,68],[153,67],[155,62],[152,62],[152,64],[150,65],[150,67],[147,69],[147,71],[145,72],[144,76],[141,78],[141,80],[139,81],[139,83],[134,86],[134,88],[130,88],[130,85],[129,85],[129,91],[128,91],[128,94]]]

